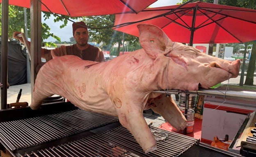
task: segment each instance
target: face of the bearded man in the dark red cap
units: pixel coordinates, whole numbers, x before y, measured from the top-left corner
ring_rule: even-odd
[[[75,41],[81,46],[85,46],[89,40],[88,31],[85,28],[76,29],[73,37],[75,38]]]

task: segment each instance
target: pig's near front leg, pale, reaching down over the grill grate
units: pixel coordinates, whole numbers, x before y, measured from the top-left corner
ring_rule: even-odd
[[[156,150],[157,143],[143,116],[142,106],[144,105],[124,100],[129,100],[129,98],[122,99],[122,101],[114,98],[113,101],[120,123],[130,131],[145,153]]]

